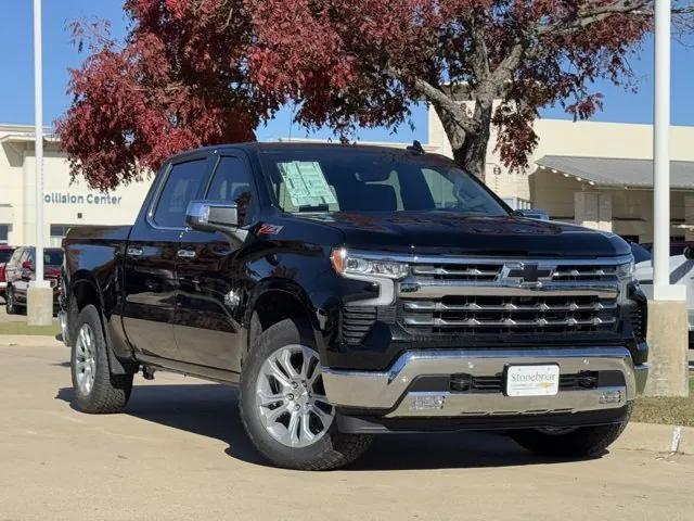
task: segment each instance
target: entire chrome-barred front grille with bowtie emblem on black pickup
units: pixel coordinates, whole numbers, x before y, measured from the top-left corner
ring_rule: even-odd
[[[615,331],[629,258],[420,259],[400,283],[398,321],[417,335]]]

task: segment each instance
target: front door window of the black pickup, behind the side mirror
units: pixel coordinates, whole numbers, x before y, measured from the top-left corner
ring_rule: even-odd
[[[253,180],[246,165],[239,157],[222,157],[215,170],[205,199],[227,201],[239,206],[239,223],[246,224],[246,215],[253,202]]]

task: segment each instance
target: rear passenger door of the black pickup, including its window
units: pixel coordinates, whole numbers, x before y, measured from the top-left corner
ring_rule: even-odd
[[[174,338],[177,254],[188,203],[200,195],[207,170],[205,153],[165,167],[146,211],[130,232],[123,321],[130,343],[145,355],[178,359]]]

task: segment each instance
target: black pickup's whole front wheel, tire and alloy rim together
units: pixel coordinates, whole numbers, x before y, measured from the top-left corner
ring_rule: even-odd
[[[243,364],[239,409],[250,442],[272,463],[286,469],[330,470],[344,467],[359,458],[371,446],[373,437],[363,434],[345,434],[337,430],[335,409],[324,397],[320,379],[320,360],[308,328],[303,328],[293,320],[278,322],[258,335]],[[299,360],[295,368],[297,370],[295,377],[300,379],[301,376],[306,376],[304,382],[308,382],[308,386],[286,378],[286,372],[277,372],[277,374],[285,383],[290,382],[290,385],[282,384],[280,380],[275,381],[274,377],[268,376],[268,368],[272,367],[269,364],[277,363],[280,359],[278,357],[290,352],[292,357],[298,357]],[[313,364],[316,365],[311,369],[310,366]],[[306,371],[304,371],[305,366],[308,367]],[[278,366],[274,367],[277,371]],[[298,389],[291,386],[294,383],[297,383]],[[281,387],[266,393],[262,391],[265,385],[281,385]],[[270,403],[266,398],[267,403],[261,405],[260,395],[265,396],[271,392],[272,396],[281,396],[280,401]],[[292,393],[296,393],[296,397],[293,397]],[[313,403],[303,402],[311,399]],[[297,410],[301,408],[301,412],[293,412],[294,408]],[[317,411],[317,408],[321,410]],[[304,412],[305,410],[308,412]],[[280,414],[277,421],[269,419],[274,412]],[[331,415],[332,420],[329,418]],[[299,417],[297,423],[293,423],[295,416]],[[325,423],[329,424],[327,428]],[[298,432],[296,436],[288,434],[292,425],[294,425],[294,432]],[[307,434],[304,428],[310,433]],[[313,439],[310,437],[311,435]]]

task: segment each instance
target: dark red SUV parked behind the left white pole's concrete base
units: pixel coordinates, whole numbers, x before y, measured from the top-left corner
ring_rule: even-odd
[[[43,277],[53,289],[55,307],[57,307],[60,295],[62,264],[63,251],[60,247],[47,247],[43,250]],[[36,249],[33,246],[17,247],[5,265],[5,278],[4,304],[8,315],[25,310],[29,282],[36,279]]]

